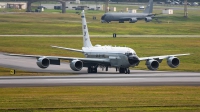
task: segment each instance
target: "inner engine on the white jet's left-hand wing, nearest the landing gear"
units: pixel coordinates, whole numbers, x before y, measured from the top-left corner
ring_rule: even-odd
[[[72,60],[70,62],[70,67],[74,71],[80,71],[83,68],[83,62],[80,60]]]

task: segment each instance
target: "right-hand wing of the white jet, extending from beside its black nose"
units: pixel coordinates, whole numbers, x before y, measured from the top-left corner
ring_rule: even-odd
[[[187,56],[190,55],[190,53],[187,54],[174,54],[174,55],[163,55],[163,56],[150,56],[150,57],[141,57],[139,58],[140,61],[149,60],[149,59],[158,59],[163,60],[169,57],[176,57],[176,56]]]

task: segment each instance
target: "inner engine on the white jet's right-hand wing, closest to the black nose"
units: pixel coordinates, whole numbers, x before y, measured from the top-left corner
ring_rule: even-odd
[[[159,67],[159,62],[157,60],[147,60],[146,61],[147,68],[149,70],[157,70]]]

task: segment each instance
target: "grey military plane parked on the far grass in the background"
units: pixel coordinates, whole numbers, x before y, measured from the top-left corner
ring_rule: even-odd
[[[101,17],[101,22],[109,23],[111,21],[119,21],[119,23],[124,23],[124,21],[129,21],[129,23],[135,23],[141,19],[144,19],[146,22],[150,22],[152,21],[152,17],[155,16],[152,12],[153,0],[149,0],[149,3],[143,13],[106,13]]]

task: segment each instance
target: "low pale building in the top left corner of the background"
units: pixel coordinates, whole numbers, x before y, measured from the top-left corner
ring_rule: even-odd
[[[26,9],[27,2],[0,2],[0,8]]]

